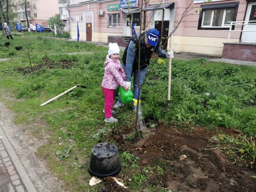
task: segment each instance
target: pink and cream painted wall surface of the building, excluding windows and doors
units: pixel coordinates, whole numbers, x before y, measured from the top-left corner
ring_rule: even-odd
[[[100,42],[108,42],[108,35],[116,35],[116,36],[122,36],[123,28],[115,29],[118,32],[113,33],[111,32],[111,28],[107,27],[107,19],[108,19],[108,13],[107,11],[107,5],[109,4],[117,4],[119,1],[109,1],[109,2],[102,2],[99,3],[98,1],[96,3],[93,3],[92,1],[87,1],[87,3],[84,4],[78,4],[79,1],[71,0],[70,5],[72,3],[76,4],[77,6],[70,7],[70,15],[73,16],[73,18],[76,18],[77,15],[82,16],[84,13],[88,11],[93,11],[93,38],[92,41],[100,41]],[[89,3],[88,3],[89,2]],[[157,0],[151,0],[150,4],[157,4],[160,1]],[[190,0],[184,0],[184,1],[177,1],[177,0],[166,0],[165,3],[176,3],[176,8],[174,9],[175,18],[174,20],[179,21],[181,20],[182,14],[184,13],[185,9],[190,4]],[[217,2],[211,2],[209,4],[220,4],[220,3],[230,3],[230,2],[239,2],[238,12],[237,12],[237,21],[243,21],[245,17],[245,10],[247,2],[246,0],[241,1],[233,1],[233,0],[223,0],[223,1],[217,1]],[[196,53],[204,53],[204,54],[213,54],[213,55],[221,55],[223,50],[223,43],[228,41],[228,32],[224,32],[224,29],[220,30],[198,30],[198,22],[199,22],[199,8],[201,3],[199,4],[192,4],[194,6],[194,11],[190,10],[190,14],[184,18],[184,22],[181,22],[179,27],[174,32],[173,37],[173,50],[176,52],[196,52]],[[140,4],[139,4],[140,6]],[[146,5],[148,7],[148,4]],[[197,8],[196,8],[197,7]],[[190,9],[190,8],[189,8]],[[104,10],[105,15],[99,16],[98,10]],[[197,10],[198,12],[195,12]],[[120,11],[119,11],[120,12]],[[121,18],[125,21],[124,13],[121,14]],[[148,11],[146,16],[146,23],[149,22],[150,18],[152,20],[153,12]],[[171,14],[172,15],[172,14]],[[155,15],[156,17],[156,15]],[[76,21],[73,21],[75,24],[72,25],[72,21],[70,23],[71,26],[71,35],[76,35]],[[81,28],[83,28],[83,32],[80,31],[80,38],[82,37],[82,40],[86,39],[85,34],[85,21],[80,21]],[[126,22],[126,21],[125,21]],[[124,25],[125,25],[124,22]],[[172,25],[172,23],[171,23]],[[125,27],[125,26],[124,26]],[[148,28],[154,27],[154,22],[152,25],[148,25]],[[235,30],[241,30],[242,26],[238,26],[235,28]],[[80,28],[79,28],[80,30]],[[113,30],[112,30],[113,31]],[[240,41],[240,35],[241,32],[232,32],[230,36],[229,42],[239,42]]]

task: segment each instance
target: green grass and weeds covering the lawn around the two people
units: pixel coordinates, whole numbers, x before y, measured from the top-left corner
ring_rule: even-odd
[[[59,175],[67,188],[77,192],[89,189],[98,191],[102,185],[91,187],[88,182],[84,182],[84,179],[90,179],[87,166],[91,148],[101,140],[100,137],[93,139],[93,136],[100,130],[132,126],[135,122],[132,107],[125,105],[118,110],[117,124],[104,123],[101,81],[108,52],[106,47],[37,35],[26,33],[26,43],[24,34],[14,34],[14,40],[9,40],[11,45],[1,47],[0,58],[10,60],[0,61],[0,100],[16,114],[15,123],[32,125],[40,122],[40,126],[31,130],[32,137],[47,137],[47,142],[38,149],[37,155],[46,159],[49,168]],[[0,36],[1,44],[6,40],[5,36]],[[16,51],[15,46],[22,46],[23,49]],[[31,73],[19,73],[17,68],[30,68],[28,50],[33,67],[45,67]],[[74,52],[83,54],[68,54]],[[63,60],[73,65],[61,68],[60,62],[64,62]],[[173,59],[171,103],[161,113],[167,104],[168,87],[168,60],[164,61],[157,62],[153,70],[148,71],[149,76],[143,86],[141,102],[143,113],[150,119],[149,127],[156,126],[159,122],[166,125],[174,123],[177,128],[199,125],[218,130],[218,126],[223,126],[240,129],[247,135],[256,135],[256,68],[210,63],[203,59]],[[55,68],[48,68],[46,65],[49,63]],[[77,84],[87,88],[77,87],[40,107],[40,104]],[[130,139],[132,138],[131,134]],[[227,137],[227,140],[231,139]],[[112,142],[110,139],[109,141]],[[218,142],[221,142],[220,138]],[[252,144],[248,144],[249,147]],[[58,161],[55,153],[65,147],[72,148],[69,157]],[[131,172],[141,168],[136,163],[136,157],[129,154],[120,152],[123,172],[134,179],[130,183],[130,189],[141,189],[140,184],[147,179],[145,172],[164,172],[162,164],[152,165],[151,169],[147,168],[137,174],[135,171]],[[249,150],[247,154],[247,158],[255,156],[253,150]],[[127,159],[133,163],[127,164]],[[75,169],[72,166],[74,163],[82,167]],[[148,186],[148,190],[168,191],[160,187],[151,189]]]

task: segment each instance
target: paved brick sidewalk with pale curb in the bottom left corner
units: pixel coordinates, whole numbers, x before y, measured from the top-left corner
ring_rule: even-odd
[[[0,192],[36,192],[0,125]]]

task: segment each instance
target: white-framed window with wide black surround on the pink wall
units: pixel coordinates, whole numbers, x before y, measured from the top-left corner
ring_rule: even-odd
[[[201,5],[198,29],[224,30],[229,29],[230,21],[236,21],[239,2]],[[235,26],[232,27],[234,29]]]

